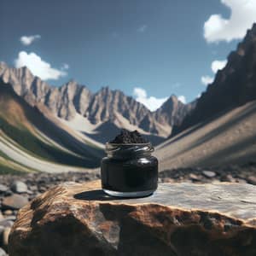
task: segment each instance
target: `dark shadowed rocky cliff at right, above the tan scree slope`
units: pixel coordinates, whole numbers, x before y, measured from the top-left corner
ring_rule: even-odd
[[[256,24],[236,51],[230,53],[228,63],[219,70],[213,83],[198,99],[196,108],[181,125],[175,125],[173,135],[191,125],[212,118],[227,109],[241,106],[256,99]]]

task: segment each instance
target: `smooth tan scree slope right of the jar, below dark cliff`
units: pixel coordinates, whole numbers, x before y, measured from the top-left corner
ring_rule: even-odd
[[[219,114],[156,148],[160,170],[224,166],[256,160],[256,101]]]

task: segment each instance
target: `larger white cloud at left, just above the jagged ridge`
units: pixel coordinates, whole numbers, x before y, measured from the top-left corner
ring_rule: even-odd
[[[15,67],[24,66],[28,67],[33,75],[43,80],[56,80],[67,75],[65,71],[50,67],[48,62],[43,61],[40,56],[33,52],[27,54],[26,51],[20,51],[18,58],[15,60]]]

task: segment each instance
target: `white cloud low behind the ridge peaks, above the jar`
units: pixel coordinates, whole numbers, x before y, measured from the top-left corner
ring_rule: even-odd
[[[157,108],[160,108],[160,106],[166,102],[168,99],[166,98],[156,98],[154,96],[147,96],[147,91],[143,88],[136,87],[133,89],[133,95],[135,96],[135,99],[137,102],[143,103],[149,110],[154,111]]]

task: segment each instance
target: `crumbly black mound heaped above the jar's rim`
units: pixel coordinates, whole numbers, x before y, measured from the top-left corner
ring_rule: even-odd
[[[116,144],[130,144],[130,143],[148,143],[146,139],[144,139],[141,134],[135,131],[127,131],[122,129],[120,134],[110,141],[109,143],[116,143]]]

